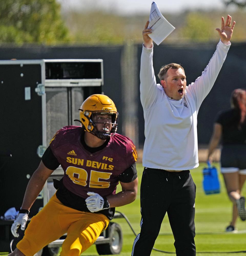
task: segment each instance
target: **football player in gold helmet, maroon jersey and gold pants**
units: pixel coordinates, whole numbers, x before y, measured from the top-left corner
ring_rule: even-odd
[[[118,112],[106,95],[89,96],[81,105],[81,126],[65,126],[52,138],[30,179],[22,207],[11,227],[18,237],[46,180],[59,166],[54,196],[32,217],[22,240],[9,255],[31,256],[67,233],[61,256],[80,255],[107,228],[115,207],[135,200],[137,152],[131,139],[116,133]],[[121,184],[122,191],[116,193]]]

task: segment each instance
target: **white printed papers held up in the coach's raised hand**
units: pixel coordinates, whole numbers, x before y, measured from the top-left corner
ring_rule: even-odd
[[[152,33],[149,34],[149,37],[157,45],[175,30],[175,27],[163,17],[155,1],[151,4],[148,28],[152,29]]]

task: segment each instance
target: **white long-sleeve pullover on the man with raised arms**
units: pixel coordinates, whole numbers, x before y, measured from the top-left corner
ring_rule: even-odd
[[[140,99],[145,119],[143,166],[176,171],[199,166],[198,110],[219,74],[230,45],[219,41],[202,75],[186,87],[181,100],[169,99],[156,83],[153,47],[143,46],[140,67]]]

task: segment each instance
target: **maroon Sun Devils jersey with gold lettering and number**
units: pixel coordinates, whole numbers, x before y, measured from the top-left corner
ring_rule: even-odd
[[[102,197],[115,194],[118,176],[137,160],[135,145],[128,137],[116,133],[106,147],[90,153],[81,144],[82,134],[80,126],[65,126],[50,142],[64,170],[64,186],[84,199],[88,191]]]

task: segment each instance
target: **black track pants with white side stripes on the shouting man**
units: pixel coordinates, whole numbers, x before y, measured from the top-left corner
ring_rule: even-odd
[[[168,172],[145,168],[140,189],[141,231],[134,240],[132,256],[149,256],[167,212],[178,256],[196,255],[196,185],[190,171]]]

